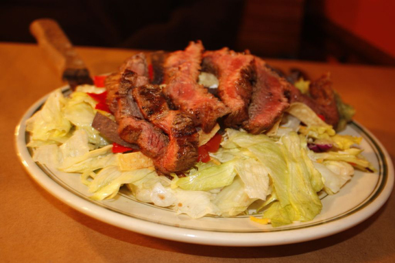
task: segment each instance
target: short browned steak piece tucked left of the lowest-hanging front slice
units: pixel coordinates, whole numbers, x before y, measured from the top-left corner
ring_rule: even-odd
[[[119,120],[118,134],[122,140],[139,145],[149,158],[158,158],[168,144],[168,138],[151,123],[133,116]]]

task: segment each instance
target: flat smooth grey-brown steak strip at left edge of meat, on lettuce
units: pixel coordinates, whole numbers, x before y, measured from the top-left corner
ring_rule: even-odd
[[[139,149],[139,146],[133,143],[125,142],[124,140],[119,137],[118,134],[118,125],[115,121],[100,114],[99,112],[96,113],[95,118],[93,118],[92,127],[97,129],[100,134],[106,137],[108,140],[112,142],[117,142],[117,144],[129,147],[132,149]]]

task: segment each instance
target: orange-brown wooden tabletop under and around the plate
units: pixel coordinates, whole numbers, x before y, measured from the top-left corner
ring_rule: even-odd
[[[131,50],[78,48],[91,73],[115,71]],[[269,60],[311,77],[330,71],[355,119],[395,156],[395,68]],[[36,45],[0,43],[0,262],[395,262],[395,197],[340,234],[277,247],[210,247],[152,238],[101,223],[38,186],[14,149],[14,128],[32,103],[62,86]]]

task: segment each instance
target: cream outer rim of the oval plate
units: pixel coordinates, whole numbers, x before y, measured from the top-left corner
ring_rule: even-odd
[[[62,86],[60,88],[62,92],[68,92],[69,86]],[[53,92],[53,90],[51,91]],[[88,216],[96,218],[99,221],[121,227],[123,229],[134,231],[139,234],[145,234],[147,236],[154,236],[156,238],[164,238],[168,240],[174,240],[179,242],[188,242],[200,245],[217,245],[217,246],[230,246],[230,247],[257,247],[257,246],[270,246],[270,245],[285,245],[297,242],[304,242],[309,240],[315,240],[326,236],[337,234],[341,231],[349,229],[367,218],[372,216],[377,210],[379,210],[387,199],[390,197],[392,188],[394,186],[394,166],[390,155],[381,142],[372,134],[366,127],[352,121],[357,125],[362,132],[365,132],[372,142],[376,144],[376,147],[383,153],[383,162],[387,168],[387,181],[383,190],[372,202],[366,205],[362,210],[350,214],[346,218],[342,218],[337,221],[331,221],[323,223],[322,225],[316,225],[312,227],[299,228],[299,229],[288,229],[283,231],[260,231],[260,232],[226,232],[226,231],[207,231],[202,229],[189,229],[184,227],[175,227],[171,225],[163,225],[154,223],[152,221],[145,221],[140,218],[134,218],[125,214],[108,210],[107,208],[91,203],[90,201],[78,197],[73,192],[63,188],[56,181],[53,181],[39,166],[32,160],[32,157],[26,147],[25,143],[25,121],[29,116],[32,116],[40,105],[42,105],[47,97],[51,94],[41,97],[29,107],[29,109],[23,114],[19,124],[16,125],[14,139],[16,153],[21,160],[27,173],[43,187],[51,195],[66,203],[77,211],[82,212]],[[380,161],[380,160],[379,160]],[[160,228],[158,231],[158,228]],[[317,229],[320,231],[317,231]],[[291,235],[287,235],[291,231]]]

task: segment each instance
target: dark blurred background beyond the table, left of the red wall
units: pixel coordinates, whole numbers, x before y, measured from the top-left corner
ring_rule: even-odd
[[[266,58],[395,65],[392,55],[326,18],[324,8],[325,0],[7,0],[0,41],[35,42],[29,24],[54,18],[74,45],[172,51],[200,39],[206,49],[250,49]]]

